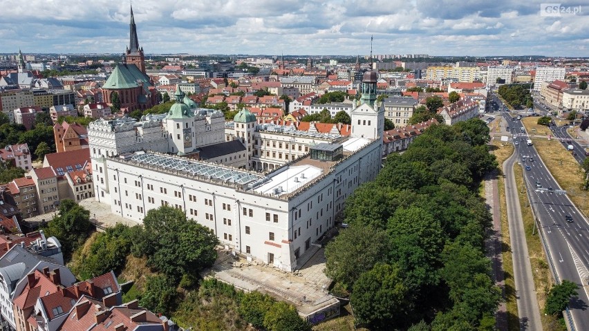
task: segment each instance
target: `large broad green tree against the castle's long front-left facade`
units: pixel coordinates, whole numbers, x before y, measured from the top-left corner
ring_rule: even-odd
[[[142,234],[132,249],[135,256],[147,256],[151,267],[180,278],[211,266],[217,243],[211,229],[188,220],[180,209],[162,206],[147,212]]]

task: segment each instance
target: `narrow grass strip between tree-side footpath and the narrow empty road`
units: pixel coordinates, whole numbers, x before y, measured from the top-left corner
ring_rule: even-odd
[[[499,164],[499,172],[501,173],[502,164],[514,152],[512,144],[501,144],[501,142],[494,141],[493,154],[497,158]],[[509,223],[507,221],[507,203],[505,202],[505,179],[503,176],[498,176],[498,193],[501,210],[501,255],[503,257],[503,277],[505,283],[505,305],[507,307],[507,330],[518,331],[519,318],[517,310],[517,298],[514,281],[514,265],[511,251],[511,242],[509,241]]]

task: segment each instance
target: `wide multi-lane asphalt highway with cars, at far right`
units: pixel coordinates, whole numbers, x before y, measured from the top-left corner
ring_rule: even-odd
[[[589,281],[589,222],[566,194],[559,193],[561,188],[536,149],[527,145],[527,135],[521,131],[521,122],[512,120],[509,113],[503,116],[512,127],[514,143],[518,142],[516,153],[524,169],[541,238],[548,248],[548,263],[559,281],[568,279],[580,287],[578,299],[570,304],[570,316],[574,330],[584,330],[589,325],[589,289],[584,286]],[[572,222],[566,220],[567,216],[572,218]],[[565,319],[568,319],[568,314],[565,314]]]

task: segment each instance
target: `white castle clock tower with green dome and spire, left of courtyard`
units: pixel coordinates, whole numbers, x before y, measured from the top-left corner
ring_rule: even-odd
[[[166,129],[168,133],[168,151],[185,155],[194,151],[196,137],[194,134],[194,113],[190,107],[183,102],[185,94],[176,85],[176,104],[170,108],[166,116]]]

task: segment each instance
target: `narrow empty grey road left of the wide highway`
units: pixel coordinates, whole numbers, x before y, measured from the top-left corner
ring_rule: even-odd
[[[542,330],[532,265],[527,252],[525,229],[521,219],[521,206],[513,170],[517,160],[518,155],[514,153],[503,163],[503,173],[505,174],[505,200],[507,200],[507,219],[509,220],[509,239],[512,245],[520,330]]]

